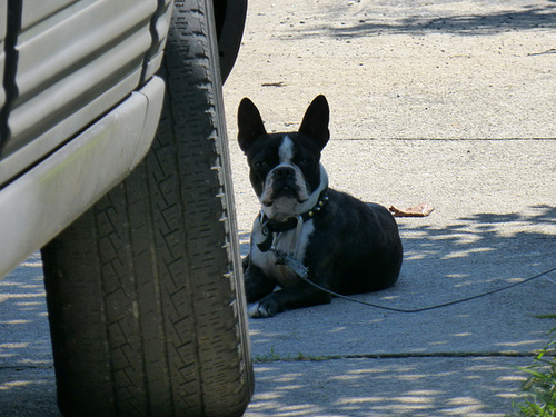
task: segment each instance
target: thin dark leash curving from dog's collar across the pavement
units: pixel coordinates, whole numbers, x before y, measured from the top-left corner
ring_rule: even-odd
[[[374,307],[374,308],[379,308],[379,309],[383,309],[383,310],[389,310],[389,311],[396,311],[396,312],[421,312],[421,311],[429,311],[429,310],[435,310],[437,308],[443,308],[443,307],[449,307],[449,306],[454,306],[456,304],[461,304],[461,302],[466,302],[466,301],[470,301],[470,300],[475,300],[477,298],[481,298],[481,297],[486,297],[486,296],[490,296],[493,294],[496,294],[496,292],[502,292],[502,291],[505,291],[507,289],[510,289],[510,288],[514,288],[514,287],[517,287],[517,286],[520,286],[520,285],[525,285],[527,282],[530,282],[537,278],[540,278],[545,275],[548,275],[550,272],[554,272],[556,271],[556,267],[554,268],[550,268],[548,270],[545,270],[544,272],[540,272],[540,274],[537,274],[533,277],[529,277],[529,278],[526,278],[524,279],[523,281],[519,281],[519,282],[515,282],[515,284],[510,284],[508,286],[505,286],[505,287],[500,287],[500,288],[497,288],[497,289],[493,289],[490,291],[487,291],[487,292],[483,292],[483,294],[478,294],[476,296],[471,296],[471,297],[467,297],[467,298],[461,298],[461,299],[458,299],[458,300],[455,300],[455,301],[449,301],[449,302],[444,302],[444,304],[439,304],[437,306],[430,306],[430,307],[423,307],[423,308],[416,308],[416,309],[404,309],[404,308],[395,308],[395,307],[386,307],[386,306],[380,306],[380,305],[377,305],[377,304],[373,304],[373,302],[367,302],[367,301],[361,301],[361,300],[358,300],[357,298],[353,298],[353,297],[349,297],[349,296],[345,296],[342,294],[338,294],[338,292],[335,292],[335,291],[331,291],[327,288],[324,288],[321,286],[319,286],[318,284],[315,284],[312,282],[308,277],[307,277],[307,272],[308,272],[308,268],[305,267],[301,262],[295,260],[294,258],[291,258],[290,256],[288,255],[285,255],[282,252],[279,252],[275,249],[271,249],[274,250],[276,257],[277,257],[277,261],[276,264],[277,265],[285,265],[287,266],[289,269],[291,269],[291,271],[294,271],[300,279],[302,279],[307,284],[310,284],[311,286],[314,286],[315,288],[318,288],[320,289],[321,291],[325,291],[325,292],[328,292],[330,294],[331,296],[335,296],[335,297],[339,297],[339,298],[344,298],[348,301],[353,301],[353,302],[357,302],[357,304],[361,304],[364,306],[367,306],[367,307]]]

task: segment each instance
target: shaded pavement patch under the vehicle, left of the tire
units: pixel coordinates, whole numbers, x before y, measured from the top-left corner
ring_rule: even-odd
[[[39,252],[0,280],[0,415],[60,416]]]

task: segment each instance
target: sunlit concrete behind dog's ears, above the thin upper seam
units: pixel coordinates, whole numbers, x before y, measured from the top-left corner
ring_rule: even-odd
[[[270,129],[328,97],[332,138],[554,138],[550,0],[251,0],[226,85]]]

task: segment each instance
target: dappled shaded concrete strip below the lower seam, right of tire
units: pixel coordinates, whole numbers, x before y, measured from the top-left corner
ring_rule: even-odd
[[[256,366],[246,417],[484,416],[508,413],[526,358],[336,359]]]

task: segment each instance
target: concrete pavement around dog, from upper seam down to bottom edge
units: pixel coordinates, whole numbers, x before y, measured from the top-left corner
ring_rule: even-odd
[[[428,218],[398,220],[405,245],[398,284],[357,298],[421,308],[553,268],[556,175],[548,155],[556,155],[556,141],[331,142],[324,163],[334,185],[386,206],[424,200],[436,208]],[[241,198],[241,181],[236,186]],[[240,209],[254,198],[244,186]],[[524,378],[515,367],[533,363],[554,326],[534,316],[554,312],[555,296],[553,272],[425,312],[334,299],[251,320],[258,363],[247,415],[503,416]]]

